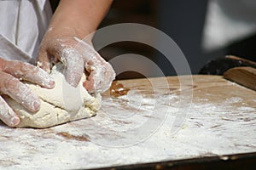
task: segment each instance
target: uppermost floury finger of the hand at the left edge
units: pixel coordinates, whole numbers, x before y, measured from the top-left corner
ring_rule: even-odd
[[[39,84],[44,88],[54,88],[55,82],[47,72],[37,66],[20,61],[6,61],[3,70],[14,77]]]

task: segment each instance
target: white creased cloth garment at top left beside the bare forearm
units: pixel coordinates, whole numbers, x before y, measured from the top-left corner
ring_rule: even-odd
[[[0,57],[35,64],[51,15],[48,0],[0,0]]]

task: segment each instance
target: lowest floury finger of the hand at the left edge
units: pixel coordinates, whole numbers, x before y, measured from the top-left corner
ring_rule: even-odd
[[[9,107],[9,105],[0,96],[0,119],[9,127],[15,127],[20,123],[20,118]]]

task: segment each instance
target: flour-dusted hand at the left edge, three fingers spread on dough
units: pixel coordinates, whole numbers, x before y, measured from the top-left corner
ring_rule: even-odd
[[[20,79],[36,83],[44,88],[54,88],[55,82],[42,69],[20,61],[8,61],[0,58],[0,94],[8,95],[23,105],[28,111],[36,112],[40,108],[38,95]],[[0,119],[15,127],[20,123],[20,118],[15,114],[6,101],[0,96]]]

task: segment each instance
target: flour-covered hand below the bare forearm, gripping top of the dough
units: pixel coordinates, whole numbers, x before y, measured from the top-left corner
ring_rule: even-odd
[[[90,94],[106,91],[115,77],[112,66],[102,59],[90,42],[79,40],[73,31],[49,28],[39,48],[38,61],[45,71],[49,71],[50,63],[58,60],[65,66],[66,80],[73,87],[77,87],[84,71],[89,74],[84,88]]]

